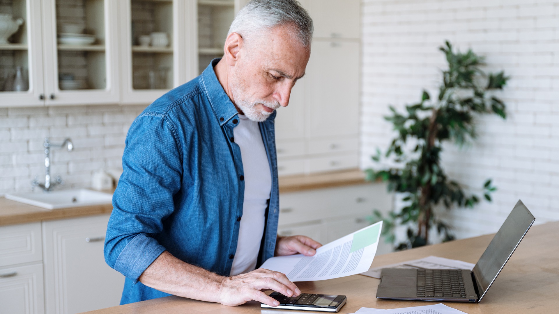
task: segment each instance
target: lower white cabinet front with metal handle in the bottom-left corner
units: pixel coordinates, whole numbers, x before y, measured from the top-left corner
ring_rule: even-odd
[[[42,264],[0,269],[0,312],[45,312]]]

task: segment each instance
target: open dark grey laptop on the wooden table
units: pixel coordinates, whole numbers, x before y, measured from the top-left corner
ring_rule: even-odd
[[[518,201],[473,270],[385,268],[377,298],[481,302],[535,220]]]

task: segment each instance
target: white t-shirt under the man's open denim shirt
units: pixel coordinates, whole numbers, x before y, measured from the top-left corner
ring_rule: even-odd
[[[231,276],[248,273],[256,268],[264,233],[264,213],[272,190],[272,175],[258,122],[239,115],[239,125],[233,129],[233,136],[241,149],[245,189]]]

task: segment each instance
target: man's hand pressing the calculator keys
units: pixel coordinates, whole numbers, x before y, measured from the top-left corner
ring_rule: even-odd
[[[219,302],[222,305],[236,306],[255,300],[269,306],[280,305],[280,302],[262,292],[269,289],[288,297],[301,294],[299,288],[285,274],[259,268],[246,274],[224,277],[219,289]]]

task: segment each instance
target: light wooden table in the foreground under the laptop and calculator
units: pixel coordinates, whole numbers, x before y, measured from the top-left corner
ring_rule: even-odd
[[[372,266],[382,266],[400,261],[424,258],[429,255],[459,259],[476,263],[493,235],[473,237],[423,248],[376,256]],[[398,308],[430,305],[437,302],[390,301],[375,298],[378,279],[353,275],[318,282],[299,282],[297,286],[306,293],[345,294],[346,305],[339,313],[353,313],[361,307]],[[515,314],[559,312],[559,222],[533,226],[520,243],[503,272],[495,280],[481,303],[445,302],[468,314]],[[307,311],[269,310],[280,313],[324,313]],[[288,312],[287,312],[288,311]],[[257,302],[237,307],[196,301],[176,296],[152,299],[102,310],[94,314],[141,313],[260,313]],[[272,312],[269,312],[272,313]]]

